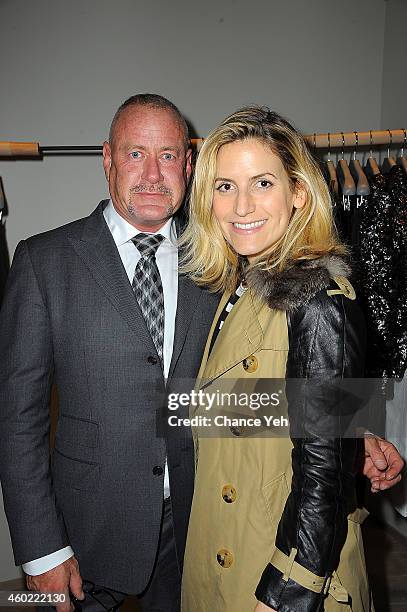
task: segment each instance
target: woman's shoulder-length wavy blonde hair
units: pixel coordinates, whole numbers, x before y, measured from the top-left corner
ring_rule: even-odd
[[[180,241],[184,247],[181,270],[212,291],[234,289],[241,262],[212,212],[218,152],[225,144],[251,138],[265,143],[279,157],[293,192],[306,191],[305,205],[294,209],[284,236],[251,265],[284,270],[298,260],[346,253],[336,233],[328,187],[304,138],[267,107],[244,107],[227,117],[202,145],[192,183],[189,222]]]

